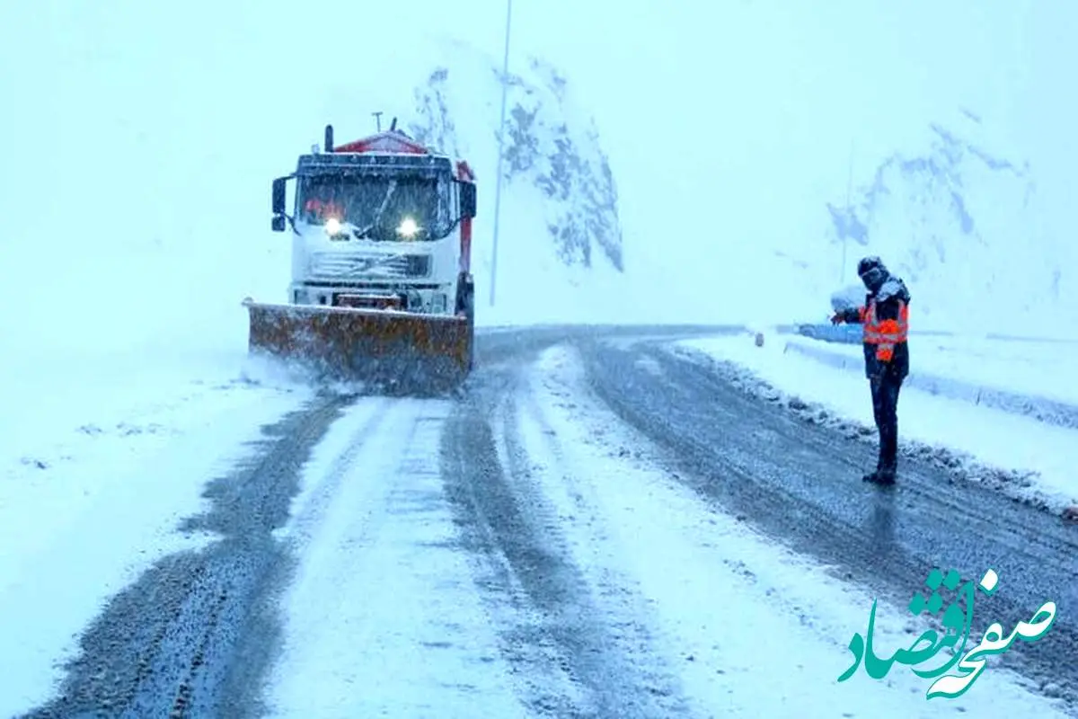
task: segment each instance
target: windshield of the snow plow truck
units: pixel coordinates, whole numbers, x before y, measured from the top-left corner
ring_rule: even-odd
[[[368,239],[441,239],[455,220],[450,184],[444,178],[410,176],[303,177],[299,216],[309,224],[336,219],[357,237]]]

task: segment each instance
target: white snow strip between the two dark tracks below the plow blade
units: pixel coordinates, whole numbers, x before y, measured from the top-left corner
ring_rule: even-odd
[[[271,715],[524,716],[443,492],[451,407],[397,400],[310,469],[326,479],[286,530],[299,564]]]

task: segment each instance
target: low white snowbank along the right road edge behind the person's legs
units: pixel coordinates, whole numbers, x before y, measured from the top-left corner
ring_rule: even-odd
[[[745,391],[834,426],[851,438],[876,442],[862,372],[787,351],[785,338],[775,335],[762,347],[754,337],[738,335],[683,341],[673,351],[713,363]],[[1075,429],[911,386],[899,400],[899,451],[1053,512],[1078,504]]]

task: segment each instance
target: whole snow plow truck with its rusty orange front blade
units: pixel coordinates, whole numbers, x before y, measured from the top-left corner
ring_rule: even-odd
[[[295,180],[291,213],[288,183]],[[411,393],[459,386],[474,357],[475,177],[397,129],[299,157],[273,181],[292,233],[288,302],[244,301],[249,352]]]

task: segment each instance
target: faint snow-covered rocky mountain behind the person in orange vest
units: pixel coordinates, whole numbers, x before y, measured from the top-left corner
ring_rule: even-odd
[[[976,333],[999,331],[1000,315],[1011,326],[1035,322],[1061,302],[1073,272],[1038,232],[1035,168],[984,144],[985,122],[967,110],[932,123],[921,151],[885,157],[849,207],[827,205],[849,265],[883,257],[914,288],[922,326]]]

